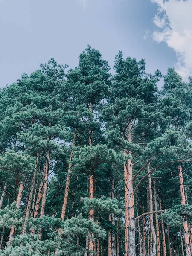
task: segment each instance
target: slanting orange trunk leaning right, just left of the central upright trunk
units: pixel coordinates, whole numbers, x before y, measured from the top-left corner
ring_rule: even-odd
[[[68,167],[68,174],[67,174],[67,180],[66,180],[66,185],[65,185],[65,193],[64,193],[64,199],[63,199],[63,206],[61,210],[61,221],[64,221],[65,219],[65,212],[66,212],[66,207],[67,207],[67,199],[69,195],[69,187],[70,187],[70,178],[71,178],[71,167],[72,167],[72,159],[74,156],[74,147],[76,145],[76,137],[77,137],[77,130],[75,129],[74,137],[73,137],[73,149],[71,151],[70,155],[70,163]]]

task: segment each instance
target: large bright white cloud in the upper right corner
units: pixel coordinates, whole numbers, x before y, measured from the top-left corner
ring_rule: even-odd
[[[166,42],[177,56],[175,69],[186,79],[192,75],[192,0],[151,0],[157,3],[153,39]]]

